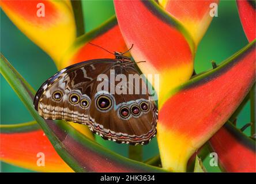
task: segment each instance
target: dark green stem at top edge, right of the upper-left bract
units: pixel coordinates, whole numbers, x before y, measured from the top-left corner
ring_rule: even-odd
[[[82,2],[81,0],[71,1],[71,5],[74,11],[74,17],[77,27],[77,37],[85,33],[84,16],[82,14]]]

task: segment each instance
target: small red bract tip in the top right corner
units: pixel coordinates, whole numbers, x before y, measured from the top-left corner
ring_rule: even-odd
[[[247,39],[253,41],[255,39],[255,1],[236,1],[238,4],[238,11],[240,20],[243,25],[244,32],[246,33]]]

